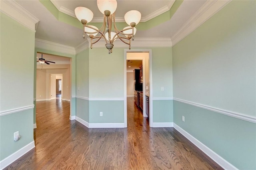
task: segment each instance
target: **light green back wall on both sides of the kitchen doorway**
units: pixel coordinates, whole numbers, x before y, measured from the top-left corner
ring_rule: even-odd
[[[124,123],[124,49],[127,48],[116,47],[108,54],[106,48],[93,48],[76,55],[76,95],[79,97],[76,116],[88,123]],[[153,97],[169,98],[154,101],[157,115],[153,121],[172,122],[172,49],[149,49],[152,49]]]

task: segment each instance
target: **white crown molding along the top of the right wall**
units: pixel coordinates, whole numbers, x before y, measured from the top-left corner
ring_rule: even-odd
[[[172,36],[172,45],[180,42],[200,25],[206,22],[231,0],[208,0],[204,5]]]

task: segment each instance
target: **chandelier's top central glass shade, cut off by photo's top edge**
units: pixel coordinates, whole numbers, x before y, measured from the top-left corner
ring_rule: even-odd
[[[110,11],[111,15],[116,11],[117,2],[116,0],[97,0],[97,6],[102,14],[105,14],[105,11]]]

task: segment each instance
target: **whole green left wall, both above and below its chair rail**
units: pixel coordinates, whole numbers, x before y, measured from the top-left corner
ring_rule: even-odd
[[[0,111],[31,106],[35,32],[0,13],[0,37]],[[14,142],[16,131],[21,138]],[[33,109],[0,117],[0,160],[33,141]]]

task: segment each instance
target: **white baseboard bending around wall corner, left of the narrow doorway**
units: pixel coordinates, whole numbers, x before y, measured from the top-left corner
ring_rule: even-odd
[[[124,123],[88,123],[77,116],[75,119],[88,128],[124,128]]]

